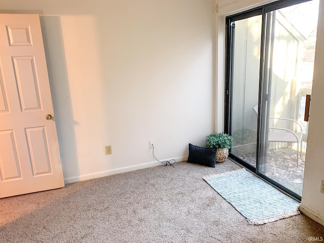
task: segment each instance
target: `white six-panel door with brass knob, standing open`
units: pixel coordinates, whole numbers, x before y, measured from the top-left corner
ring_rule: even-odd
[[[64,186],[46,114],[54,115],[39,16],[0,14],[0,198]]]

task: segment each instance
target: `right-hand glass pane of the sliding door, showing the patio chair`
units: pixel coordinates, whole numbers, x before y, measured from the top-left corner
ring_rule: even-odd
[[[302,101],[306,88],[311,93],[317,20],[310,17],[316,9],[318,1],[310,1],[266,13],[272,21],[265,30],[269,61],[258,172],[300,196],[307,141]]]

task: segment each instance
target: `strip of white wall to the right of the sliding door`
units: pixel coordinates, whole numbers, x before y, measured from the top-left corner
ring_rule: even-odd
[[[319,1],[319,18],[314,63],[314,78],[309,114],[307,153],[303,184],[302,205],[324,224],[324,194],[320,193],[321,180],[324,180],[324,2]]]

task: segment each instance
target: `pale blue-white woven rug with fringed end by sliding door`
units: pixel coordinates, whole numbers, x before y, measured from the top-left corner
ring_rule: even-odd
[[[250,224],[265,224],[300,214],[299,203],[246,169],[203,179]]]

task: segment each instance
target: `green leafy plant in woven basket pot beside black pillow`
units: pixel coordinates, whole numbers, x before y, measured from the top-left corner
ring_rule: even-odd
[[[224,162],[228,157],[233,138],[225,133],[212,133],[206,137],[206,147],[217,148],[216,162]]]

